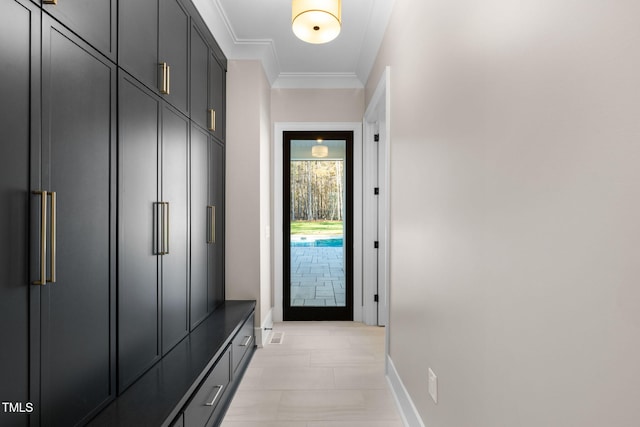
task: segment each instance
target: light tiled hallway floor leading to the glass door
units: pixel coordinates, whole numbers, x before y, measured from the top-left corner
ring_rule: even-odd
[[[257,349],[222,427],[402,427],[384,377],[384,328],[284,322]]]

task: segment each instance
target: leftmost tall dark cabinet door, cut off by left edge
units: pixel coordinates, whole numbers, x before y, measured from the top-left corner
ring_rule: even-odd
[[[0,2],[0,399],[23,407],[30,401],[29,145],[39,149],[39,12],[29,2]],[[37,172],[33,181],[39,186]],[[0,425],[28,421],[0,410]]]

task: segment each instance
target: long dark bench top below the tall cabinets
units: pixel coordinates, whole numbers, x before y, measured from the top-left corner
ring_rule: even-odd
[[[254,309],[225,301],[88,425],[169,425]]]

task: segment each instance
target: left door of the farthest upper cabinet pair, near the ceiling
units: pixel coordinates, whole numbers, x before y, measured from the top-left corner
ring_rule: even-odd
[[[200,30],[191,27],[191,119],[209,126],[209,46]]]

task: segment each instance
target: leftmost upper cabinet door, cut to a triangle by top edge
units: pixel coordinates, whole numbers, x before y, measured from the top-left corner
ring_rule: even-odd
[[[43,7],[84,41],[116,60],[117,0],[60,0]]]

